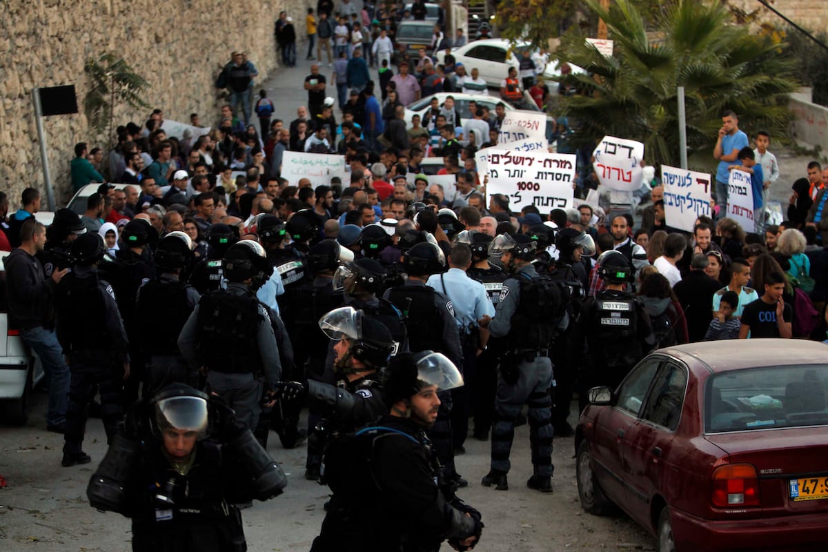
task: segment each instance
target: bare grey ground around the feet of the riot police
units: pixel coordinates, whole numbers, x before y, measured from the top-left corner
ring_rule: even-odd
[[[46,395],[36,391],[25,427],[0,427],[0,550],[3,552],[120,552],[130,550],[130,522],[89,506],[86,485],[105,452],[100,420],[89,420],[84,449],[93,458],[85,466],[60,466],[62,435],[47,433],[42,412]],[[555,552],[557,550],[654,550],[655,543],[627,516],[595,517],[581,510],[575,485],[571,438],[555,440],[555,492],[526,487],[532,472],[528,428],[515,430],[509,490],[480,485],[489,470],[490,442],[469,439],[457,457],[469,487],[460,496],[483,512],[484,529],[475,550]],[[327,487],[304,478],[305,449],[285,450],[275,434],[268,451],[288,475],[282,496],[255,502],[243,511],[248,550],[310,550],[325,516]],[[451,550],[444,545],[441,550]]]

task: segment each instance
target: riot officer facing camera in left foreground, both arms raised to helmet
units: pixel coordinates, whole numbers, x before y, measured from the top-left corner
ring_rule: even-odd
[[[136,403],[87,487],[89,504],[132,518],[136,552],[247,550],[234,504],[287,484],[217,396],[181,383]]]

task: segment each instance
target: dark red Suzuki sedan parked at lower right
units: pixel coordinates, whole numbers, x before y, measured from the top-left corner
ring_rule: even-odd
[[[658,550],[828,550],[828,346],[663,348],[575,433],[581,506],[619,506]]]

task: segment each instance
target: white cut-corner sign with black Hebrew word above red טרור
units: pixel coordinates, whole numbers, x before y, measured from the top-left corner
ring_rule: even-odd
[[[595,174],[602,186],[628,192],[641,187],[643,143],[605,136],[592,155],[595,156]]]

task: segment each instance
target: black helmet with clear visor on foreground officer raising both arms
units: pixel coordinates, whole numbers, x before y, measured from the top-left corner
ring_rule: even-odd
[[[208,397],[184,383],[171,383],[152,397],[150,429],[157,438],[164,430],[188,430],[207,436]]]

